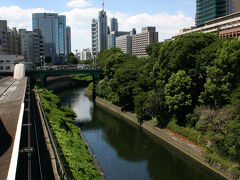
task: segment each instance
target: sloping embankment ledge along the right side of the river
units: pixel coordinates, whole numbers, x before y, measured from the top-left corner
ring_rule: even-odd
[[[91,97],[91,91],[85,90],[85,95],[88,97]],[[122,112],[120,107],[117,107],[113,105],[112,103],[101,99],[99,97],[96,98],[96,104],[103,107],[106,110],[110,110],[114,114],[120,115],[122,118],[133,124],[134,126],[140,126],[137,117],[134,113],[130,112]],[[183,152],[187,156],[191,157],[195,161],[199,162],[203,166],[211,169],[221,177],[225,179],[233,179],[233,177],[230,174],[227,174],[226,172],[223,172],[220,167],[210,165],[205,161],[205,158],[203,157],[204,149],[197,146],[195,143],[191,142],[187,138],[178,135],[170,130],[166,129],[160,129],[156,127],[152,122],[147,121],[143,122],[141,125],[143,130],[153,134],[154,136],[160,138],[161,140],[165,141],[166,143],[170,144],[171,146],[175,147],[177,150]]]

